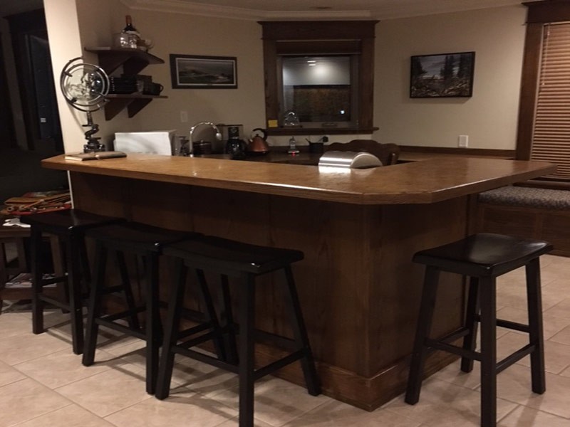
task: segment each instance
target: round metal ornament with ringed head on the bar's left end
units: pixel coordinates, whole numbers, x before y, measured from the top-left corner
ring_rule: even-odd
[[[91,113],[98,111],[107,102],[109,93],[109,77],[98,65],[83,63],[83,58],[70,60],[61,70],[60,87],[66,101],[73,108],[87,113],[87,124],[90,127],[85,132],[87,144],[83,145],[83,152],[92,153],[105,151],[105,145],[99,143],[93,135],[99,132],[99,125],[93,123]]]

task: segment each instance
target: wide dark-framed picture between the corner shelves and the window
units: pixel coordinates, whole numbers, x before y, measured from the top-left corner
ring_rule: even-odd
[[[170,54],[172,89],[236,89],[237,58]]]

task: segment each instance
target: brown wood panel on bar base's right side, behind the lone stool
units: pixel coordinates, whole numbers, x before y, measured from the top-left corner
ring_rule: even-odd
[[[372,288],[373,306],[368,312],[378,332],[371,336],[374,371],[395,364],[410,354],[423,285],[423,265],[412,263],[422,249],[465,237],[467,198],[419,206],[383,206],[380,241],[383,271]],[[395,226],[397,224],[397,226]],[[461,319],[462,279],[442,274],[433,333],[444,334]],[[405,309],[404,309],[405,307]]]

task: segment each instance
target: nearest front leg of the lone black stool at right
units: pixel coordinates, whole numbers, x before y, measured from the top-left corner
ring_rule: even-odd
[[[496,280],[480,278],[481,295],[481,426],[497,426]]]

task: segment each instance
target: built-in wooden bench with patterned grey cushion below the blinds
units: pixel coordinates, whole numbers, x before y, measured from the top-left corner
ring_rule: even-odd
[[[504,186],[477,201],[477,231],[539,238],[554,255],[570,256],[570,191]]]

